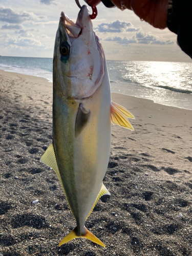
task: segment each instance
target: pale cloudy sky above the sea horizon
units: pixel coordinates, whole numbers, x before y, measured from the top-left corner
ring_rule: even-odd
[[[74,22],[79,12],[75,0],[59,1],[0,0],[0,55],[53,57],[61,11]],[[93,27],[106,59],[192,62],[167,28],[153,28],[130,10],[109,9],[102,3],[97,10]]]

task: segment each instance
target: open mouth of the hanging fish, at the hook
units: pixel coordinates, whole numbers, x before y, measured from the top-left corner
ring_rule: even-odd
[[[64,12],[61,12],[60,23],[65,27],[66,32],[71,41],[78,38],[83,29],[82,18],[88,16],[89,10],[86,5],[83,5],[78,13],[76,23],[74,23]]]

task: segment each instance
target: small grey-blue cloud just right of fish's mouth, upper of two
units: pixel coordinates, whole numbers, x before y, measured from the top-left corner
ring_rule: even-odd
[[[139,31],[140,28],[135,28],[131,22],[122,22],[121,20],[116,20],[115,22],[110,23],[101,23],[96,28],[98,32],[113,32],[113,33],[120,33],[120,32],[136,32]]]

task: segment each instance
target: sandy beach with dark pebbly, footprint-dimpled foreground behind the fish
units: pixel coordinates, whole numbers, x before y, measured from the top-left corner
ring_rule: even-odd
[[[60,240],[75,227],[54,170],[52,83],[0,70],[0,256],[192,255],[192,111],[112,94],[135,131],[112,126],[103,196],[86,222],[105,245]],[[33,201],[36,203],[33,203]]]

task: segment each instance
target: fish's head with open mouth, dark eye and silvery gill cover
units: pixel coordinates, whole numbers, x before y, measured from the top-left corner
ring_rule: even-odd
[[[55,38],[53,86],[71,99],[95,93],[104,76],[104,54],[87,6],[82,6],[76,23],[61,12]]]

